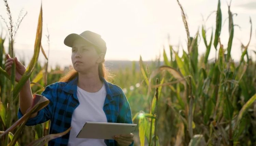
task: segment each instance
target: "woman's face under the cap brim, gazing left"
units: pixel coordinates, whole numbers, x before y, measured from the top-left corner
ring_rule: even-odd
[[[95,69],[98,70],[98,64],[102,61],[102,56],[96,52],[92,44],[77,39],[72,46],[71,60],[77,72],[87,73]]]

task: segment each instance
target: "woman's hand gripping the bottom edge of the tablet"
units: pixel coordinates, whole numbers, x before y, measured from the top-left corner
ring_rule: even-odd
[[[133,142],[133,134],[128,135],[115,135],[113,138],[117,141],[119,146],[129,146]]]

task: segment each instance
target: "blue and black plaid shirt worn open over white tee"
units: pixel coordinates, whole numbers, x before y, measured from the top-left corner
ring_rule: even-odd
[[[130,105],[123,90],[107,82],[102,78],[106,87],[106,98],[103,110],[109,123],[132,124]],[[49,99],[49,104],[38,112],[38,115],[30,118],[26,125],[33,126],[51,120],[49,134],[60,133],[71,126],[71,118],[74,109],[79,105],[76,96],[78,77],[69,82],[56,82],[45,88],[42,95]],[[18,118],[22,117],[20,109]],[[68,132],[60,138],[48,142],[48,146],[67,146],[69,140]],[[115,140],[104,140],[107,146],[116,146]],[[133,145],[133,142],[130,146]]]

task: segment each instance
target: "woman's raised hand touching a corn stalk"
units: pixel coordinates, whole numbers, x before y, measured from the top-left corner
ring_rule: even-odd
[[[17,57],[11,58],[9,54],[6,54],[5,57],[6,57],[6,61],[5,61],[5,65],[4,65],[5,71],[9,75],[11,75],[11,68],[12,68],[13,62],[15,61],[15,64],[16,64],[15,81],[19,82],[22,75],[26,71],[26,67],[18,61]]]

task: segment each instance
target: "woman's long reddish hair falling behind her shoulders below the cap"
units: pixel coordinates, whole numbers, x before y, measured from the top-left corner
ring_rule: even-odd
[[[99,77],[104,78],[105,80],[111,80],[113,78],[112,74],[109,73],[108,69],[106,69],[104,62],[99,63],[98,66]],[[68,82],[74,79],[78,75],[78,72],[74,68],[70,68],[69,72],[61,77],[59,81]]]

